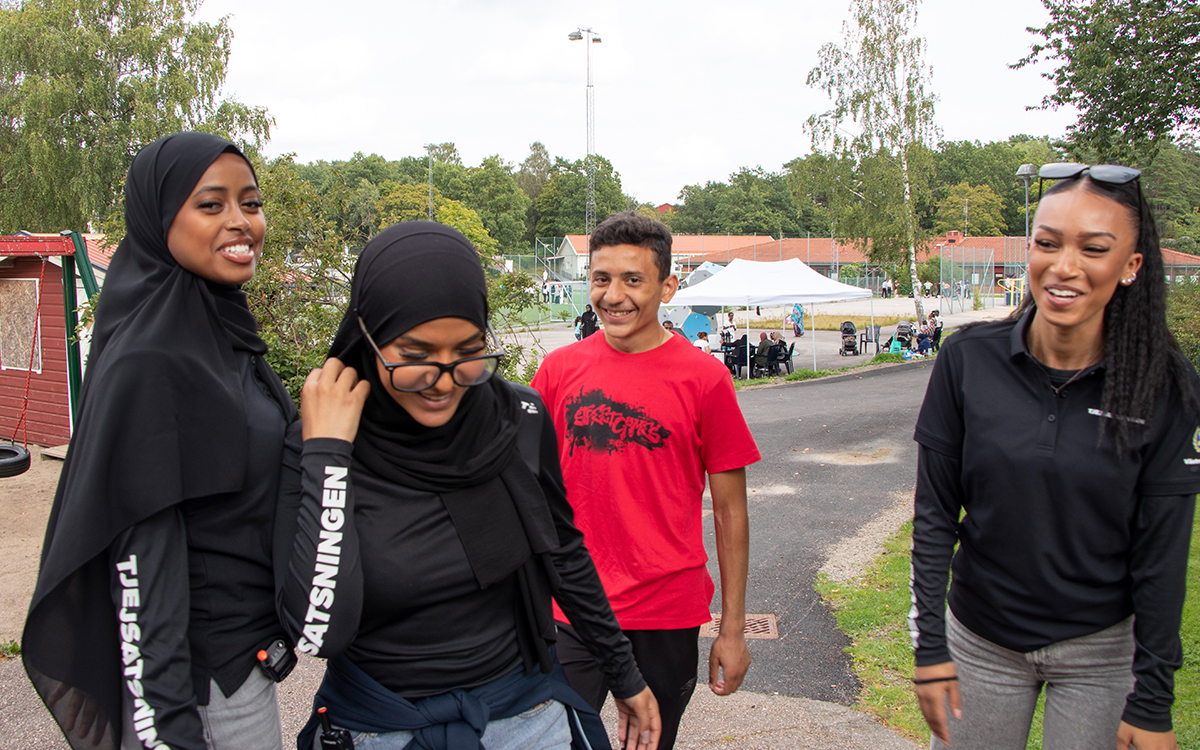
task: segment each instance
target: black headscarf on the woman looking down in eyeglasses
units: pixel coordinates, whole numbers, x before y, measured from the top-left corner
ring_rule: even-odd
[[[359,257],[350,305],[329,352],[371,383],[354,460],[397,485],[438,493],[481,587],[556,550],[541,486],[517,455],[520,400],[508,383],[497,376],[467,389],[450,421],[425,427],[384,388],[360,316],[379,347],[437,318],[485,330],[487,286],[467,238],[444,224],[404,222],[379,233]]]

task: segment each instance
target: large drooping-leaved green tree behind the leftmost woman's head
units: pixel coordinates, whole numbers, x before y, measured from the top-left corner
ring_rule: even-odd
[[[228,18],[199,0],[24,0],[0,6],[0,226],[106,218],[133,155],[203,130],[260,145],[266,110],[221,98]]]

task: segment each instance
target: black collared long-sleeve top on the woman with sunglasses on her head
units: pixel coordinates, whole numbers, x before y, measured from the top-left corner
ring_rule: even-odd
[[[954,616],[1012,650],[1135,614],[1136,686],[1123,720],[1166,731],[1182,665],[1200,430],[1172,386],[1146,424],[1130,425],[1117,455],[1111,433],[1098,432],[1099,420],[1114,419],[1099,409],[1103,362],[1074,382],[1056,378],[1028,354],[1027,322],[952,336],[925,394],[910,613],[917,665],[950,660],[953,557]]]

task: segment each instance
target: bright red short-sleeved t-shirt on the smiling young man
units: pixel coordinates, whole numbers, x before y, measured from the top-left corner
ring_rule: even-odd
[[[758,461],[728,370],[682,336],[617,352],[602,334],[533,379],[554,419],[566,499],[622,628],[707,623],[704,475]],[[565,616],[554,605],[554,616]]]

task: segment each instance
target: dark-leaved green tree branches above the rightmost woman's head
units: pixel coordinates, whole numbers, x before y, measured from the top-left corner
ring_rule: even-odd
[[[1042,0],[1050,23],[1013,65],[1043,73],[1055,91],[1040,108],[1070,106],[1076,157],[1153,162],[1172,134],[1200,128],[1200,5],[1195,0]]]

